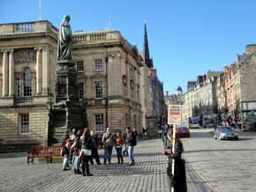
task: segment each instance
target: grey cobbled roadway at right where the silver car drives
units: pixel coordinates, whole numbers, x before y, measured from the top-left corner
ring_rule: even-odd
[[[219,141],[209,132],[192,129],[183,139],[184,158],[215,192],[256,191],[256,133],[238,132],[239,141]]]

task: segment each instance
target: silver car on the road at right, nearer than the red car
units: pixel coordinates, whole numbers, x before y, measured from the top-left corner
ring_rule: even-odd
[[[215,129],[214,138],[219,140],[232,139],[237,141],[238,134],[233,128],[229,126],[219,126]]]

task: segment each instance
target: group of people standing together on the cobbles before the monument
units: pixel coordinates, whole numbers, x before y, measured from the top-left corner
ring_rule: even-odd
[[[111,164],[113,148],[117,151],[117,164],[124,163],[124,155],[129,157],[127,166],[134,166],[134,146],[137,144],[137,132],[132,131],[130,127],[125,129],[123,135],[120,130],[115,133],[108,127],[102,136],[102,144],[104,147],[103,164]],[[69,129],[65,130],[62,139],[62,156],[64,157],[63,170],[72,170],[74,174],[82,174],[83,176],[92,176],[89,170],[89,162],[94,165],[94,159],[97,165],[102,165],[99,156],[100,139],[94,130],[85,129]],[[123,151],[124,146],[124,151]],[[80,171],[82,166],[82,172]]]

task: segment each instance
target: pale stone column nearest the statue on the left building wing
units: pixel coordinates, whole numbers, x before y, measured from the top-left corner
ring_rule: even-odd
[[[41,51],[41,67],[42,67],[42,94],[49,93],[49,48],[42,48]]]

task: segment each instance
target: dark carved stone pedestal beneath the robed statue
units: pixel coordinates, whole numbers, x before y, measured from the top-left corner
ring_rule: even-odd
[[[57,63],[56,102],[50,113],[49,143],[61,142],[66,129],[82,129],[87,126],[84,103],[79,102],[77,71],[72,61]]]

